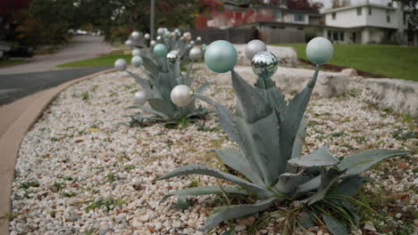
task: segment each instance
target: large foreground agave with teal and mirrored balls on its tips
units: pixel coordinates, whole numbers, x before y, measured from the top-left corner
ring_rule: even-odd
[[[263,50],[263,46],[248,50]],[[265,50],[265,49],[264,49]],[[253,56],[254,53],[248,53]],[[219,169],[202,165],[182,166],[161,176],[158,180],[187,174],[205,174],[229,181],[238,187],[199,186],[171,191],[163,197],[232,193],[256,197],[255,204],[216,207],[205,221],[202,229],[207,231],[230,219],[262,212],[278,202],[300,201],[303,207],[318,205],[314,216],[304,216],[304,224],[313,226],[316,218],[322,217],[333,234],[348,234],[346,223],[339,216],[322,209],[325,200],[339,213],[349,217],[349,223],[358,225],[359,217],[349,200],[357,187],[364,182],[360,174],[390,157],[408,154],[404,150],[365,150],[335,158],[327,147],[321,147],[301,156],[305,137],[305,109],[314,90],[320,65],[329,61],[333,54],[330,41],[316,37],[306,47],[306,55],[317,66],[314,77],[293,99],[286,101],[284,95],[272,81],[278,62],[272,53],[258,52],[252,58],[252,66],[258,79],[255,85],[247,82],[233,70],[237,52],[227,41],[216,41],[205,52],[205,63],[215,72],[231,72],[232,86],[237,95],[234,114],[224,105],[213,101],[202,93],[190,93],[185,89],[183,101],[194,98],[207,102],[216,110],[222,129],[237,142],[239,149],[216,150],[226,166],[240,175],[225,173]],[[178,101],[174,101],[178,103]],[[187,102],[180,102],[186,105]],[[310,224],[310,225],[309,225]]]

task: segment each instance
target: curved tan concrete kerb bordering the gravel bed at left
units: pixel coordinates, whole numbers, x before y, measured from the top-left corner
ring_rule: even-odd
[[[18,157],[21,141],[30,127],[42,115],[44,109],[63,89],[82,80],[112,72],[107,69],[87,77],[66,82],[45,91],[31,94],[13,103],[0,107],[0,218],[11,211],[12,182],[14,180],[14,165]],[[0,219],[0,234],[9,234],[9,222]]]

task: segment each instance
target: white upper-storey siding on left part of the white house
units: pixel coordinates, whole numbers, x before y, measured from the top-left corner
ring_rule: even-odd
[[[363,7],[364,8],[364,7]],[[330,27],[354,28],[366,25],[366,9],[362,9],[362,14],[357,15],[356,8],[335,12],[336,19],[332,20],[332,12],[325,14],[325,25]]]

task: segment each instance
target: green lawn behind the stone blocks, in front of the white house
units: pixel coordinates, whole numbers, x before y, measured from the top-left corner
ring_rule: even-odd
[[[292,46],[297,56],[306,59],[306,44]],[[334,45],[334,57],[328,62],[385,77],[418,81],[418,47],[401,45]]]

